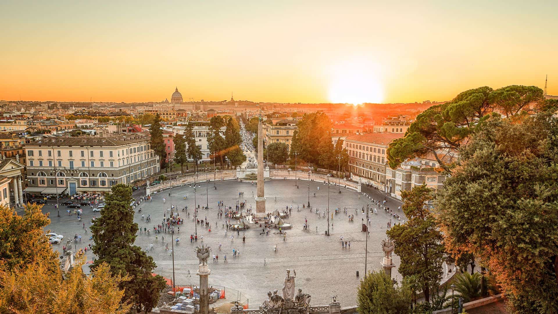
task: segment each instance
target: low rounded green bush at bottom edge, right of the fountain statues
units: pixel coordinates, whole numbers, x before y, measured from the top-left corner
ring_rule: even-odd
[[[391,278],[382,271],[368,272],[360,280],[357,291],[357,311],[360,314],[411,313],[411,290],[403,285],[394,287]]]

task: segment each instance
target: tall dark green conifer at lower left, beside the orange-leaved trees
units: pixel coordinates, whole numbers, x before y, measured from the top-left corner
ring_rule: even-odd
[[[129,279],[120,284],[121,289],[126,289],[123,300],[130,299],[137,310],[149,312],[157,305],[165,280],[160,275],[152,276],[156,267],[153,258],[133,245],[138,225],[133,222],[131,200],[131,186],[113,185],[101,216],[91,227],[95,241],[93,252],[98,256],[93,267],[107,263],[113,275],[129,275]]]

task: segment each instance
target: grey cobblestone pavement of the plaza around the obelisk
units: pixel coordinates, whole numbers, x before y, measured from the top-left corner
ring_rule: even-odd
[[[362,206],[369,203],[369,200],[362,194],[333,185],[329,191],[329,208],[331,213],[335,212],[336,207],[340,207],[338,214],[333,214],[333,227],[330,226],[330,236],[325,236],[324,231],[328,229],[325,217],[318,217],[315,213],[316,207],[319,212],[327,213],[328,207],[328,187],[327,185],[312,182],[310,183],[310,204],[312,212],[308,208],[302,208],[302,204],[308,202],[307,182],[298,182],[296,187],[294,180],[270,180],[265,183],[265,193],[267,197],[267,210],[273,211],[276,208],[283,210],[286,206],[293,206],[291,217],[286,222],[291,223],[293,228],[287,230],[286,240],[283,240],[277,230],[273,230],[269,235],[260,235],[261,229],[240,232],[229,231],[225,235],[223,219],[217,218],[217,201],[223,201],[225,206],[234,206],[238,198],[238,192],[244,192],[242,200],[247,200],[247,206],[256,208],[256,202],[252,193],[256,194],[256,185],[251,183],[241,183],[235,181],[217,182],[217,189],[214,183],[199,183],[201,187],[196,189],[196,204],[200,207],[209,204],[209,210],[199,210],[198,218],[207,216],[210,222],[211,231],[198,225],[198,237],[203,236],[203,244],[210,245],[214,254],[219,255],[219,263],[213,263],[210,259],[211,275],[210,284],[225,286],[237,289],[249,299],[250,307],[257,307],[267,295],[267,291],[281,289],[286,268],[295,269],[297,273],[296,287],[302,288],[312,296],[312,304],[326,304],[330,301],[330,296],[338,295],[338,299],[343,306],[356,304],[356,292],[360,277],[364,274],[364,248],[365,234],[361,232]],[[319,187],[319,189],[318,189]],[[163,213],[171,204],[176,204],[179,210],[188,206],[189,210],[194,208],[194,189],[188,187],[174,188],[169,196],[169,191],[163,191],[155,196],[151,202],[141,204],[142,213],[147,217],[151,215],[152,221],[146,223],[141,220],[141,214],[136,213],[134,221],[140,227],[153,230],[153,226],[161,223]],[[143,189],[134,192],[138,197],[145,193]],[[314,196],[313,193],[316,193]],[[373,198],[383,199],[383,193],[377,191],[368,192]],[[187,199],[184,199],[184,195]],[[163,204],[162,197],[167,199]],[[277,200],[276,200],[277,198]],[[401,203],[395,199],[388,198],[386,206],[397,212],[397,207]],[[297,211],[299,206],[299,211]],[[343,212],[343,207],[347,207],[348,215],[354,215],[354,221],[349,221],[348,216]],[[74,234],[82,236],[81,242],[76,244],[78,249],[92,243],[89,241],[89,230],[83,229],[90,225],[92,216],[99,216],[99,212],[93,213],[90,208],[84,208],[83,221],[78,222],[75,215],[68,216],[65,206],[61,206],[61,217],[56,217],[53,202],[43,208],[44,212],[50,212],[51,225],[47,227],[52,232],[62,234],[65,239],[72,238]],[[137,209],[137,208],[136,208]],[[201,240],[197,243],[190,243],[190,234],[194,234],[195,223],[193,212],[188,217],[186,212],[179,211],[185,218],[184,225],[180,225],[180,232],[175,236],[180,237],[180,244],[174,246],[175,277],[177,284],[193,283],[199,280],[195,275],[198,261],[196,260],[194,248],[202,244]],[[402,216],[403,213],[401,212]],[[321,216],[321,215],[320,215]],[[371,231],[368,237],[368,270],[381,269],[382,251],[380,241],[386,237],[387,222],[389,215],[384,211],[370,215],[372,223],[369,226]],[[303,230],[303,224],[307,218],[310,229]],[[403,220],[403,218],[402,218]],[[232,220],[233,222],[234,220]],[[215,223],[217,222],[217,226]],[[318,231],[316,232],[316,226]],[[88,229],[88,228],[86,228]],[[85,233],[87,232],[87,233]],[[230,235],[234,235],[233,241]],[[242,236],[246,235],[246,242],[242,242]],[[152,243],[153,250],[150,255],[157,263],[155,272],[172,278],[172,255],[165,249],[165,245],[170,243],[170,234],[161,232],[158,234],[158,241],[155,235],[150,236],[139,234],[136,245],[144,250]],[[341,248],[340,236],[345,241],[350,241],[350,249]],[[161,241],[165,237],[165,243]],[[222,244],[222,249],[218,249],[218,243]],[[277,245],[277,251],[273,247]],[[53,245],[53,248],[62,251],[62,244]],[[236,249],[240,255],[233,257],[232,250]],[[92,260],[94,255],[88,252],[88,259]],[[224,256],[227,255],[228,263],[224,263]],[[264,259],[267,265],[264,265]],[[394,256],[393,263],[399,264],[399,258]],[[190,270],[192,277],[187,277],[187,270]],[[360,277],[356,276],[359,272]],[[292,272],[291,272],[292,274]],[[397,267],[392,270],[393,277],[401,280],[401,275],[397,272]]]

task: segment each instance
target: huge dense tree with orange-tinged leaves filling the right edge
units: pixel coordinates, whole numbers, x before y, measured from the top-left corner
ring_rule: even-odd
[[[446,250],[473,254],[517,313],[558,312],[555,113],[490,118],[437,196]]]

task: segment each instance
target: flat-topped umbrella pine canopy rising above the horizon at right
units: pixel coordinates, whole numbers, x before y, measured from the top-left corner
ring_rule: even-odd
[[[459,149],[488,117],[498,115],[497,112],[506,117],[534,113],[544,103],[541,89],[534,86],[511,85],[495,91],[487,86],[469,89],[451,102],[437,104],[420,113],[405,136],[389,144],[389,166],[395,169],[414,156]],[[437,161],[442,168],[450,169],[443,160]]]

